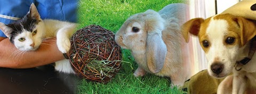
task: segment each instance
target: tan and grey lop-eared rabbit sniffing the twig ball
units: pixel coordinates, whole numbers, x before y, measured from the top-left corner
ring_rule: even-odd
[[[146,72],[170,77],[172,86],[183,86],[190,77],[188,44],[180,29],[187,21],[187,10],[186,4],[170,4],[159,12],[134,14],[120,27],[115,41],[131,50],[139,66],[135,77]]]

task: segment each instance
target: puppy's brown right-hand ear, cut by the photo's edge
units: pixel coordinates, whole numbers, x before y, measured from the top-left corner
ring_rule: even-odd
[[[233,18],[241,30],[241,44],[244,46],[256,35],[256,27],[252,21],[246,20],[243,17]]]

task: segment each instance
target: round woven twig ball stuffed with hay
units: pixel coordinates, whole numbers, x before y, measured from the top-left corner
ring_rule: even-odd
[[[106,83],[121,67],[122,54],[113,32],[90,25],[73,34],[68,57],[79,77]]]

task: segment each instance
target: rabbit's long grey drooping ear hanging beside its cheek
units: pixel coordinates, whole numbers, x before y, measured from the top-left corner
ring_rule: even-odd
[[[147,36],[147,65],[149,71],[158,73],[164,66],[167,48],[161,34],[153,33]]]

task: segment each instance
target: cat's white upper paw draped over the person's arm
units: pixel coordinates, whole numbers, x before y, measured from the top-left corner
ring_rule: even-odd
[[[58,49],[62,52],[62,53],[67,53],[70,49],[70,40],[69,39],[59,39],[57,38],[57,46]]]

